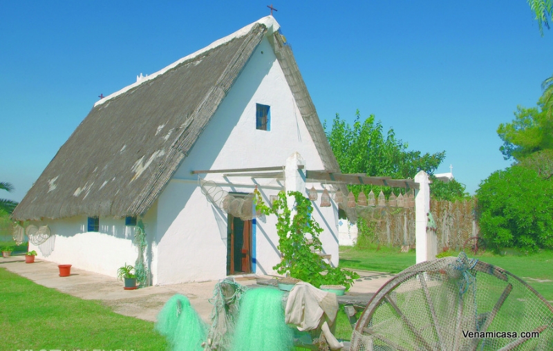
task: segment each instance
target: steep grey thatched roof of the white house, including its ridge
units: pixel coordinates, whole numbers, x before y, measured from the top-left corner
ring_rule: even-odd
[[[292,50],[278,29],[272,17],[264,17],[97,102],[12,218],[144,215],[265,36],[325,169],[339,171]]]

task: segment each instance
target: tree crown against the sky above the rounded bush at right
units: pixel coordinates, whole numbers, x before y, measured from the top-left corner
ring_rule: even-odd
[[[553,149],[553,116],[547,113],[544,99],[536,107],[518,106],[515,119],[499,125],[497,133],[503,140],[499,150],[505,160],[520,161],[536,151]]]

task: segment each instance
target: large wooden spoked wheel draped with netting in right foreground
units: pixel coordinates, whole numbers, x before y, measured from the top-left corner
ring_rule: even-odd
[[[351,351],[553,350],[553,307],[521,278],[445,257],[397,274],[355,325]]]

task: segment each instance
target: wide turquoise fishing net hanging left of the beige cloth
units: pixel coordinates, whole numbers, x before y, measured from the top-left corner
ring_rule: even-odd
[[[243,296],[232,351],[288,351],[294,332],[284,322],[284,292],[271,287],[248,290]]]

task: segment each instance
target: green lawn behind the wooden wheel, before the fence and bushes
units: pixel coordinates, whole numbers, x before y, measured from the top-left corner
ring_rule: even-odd
[[[453,252],[451,255],[457,256],[458,252]],[[471,254],[469,256],[473,257]],[[553,301],[553,252],[543,251],[529,255],[508,252],[504,256],[485,252],[474,257],[522,278],[548,301]],[[399,248],[390,247],[380,247],[380,249],[340,247],[339,265],[344,268],[397,273],[414,264],[414,250],[402,253]]]

